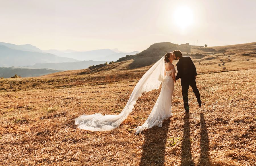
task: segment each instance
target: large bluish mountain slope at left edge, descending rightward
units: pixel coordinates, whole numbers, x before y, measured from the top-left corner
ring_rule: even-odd
[[[0,67],[28,66],[36,63],[75,62],[77,59],[59,57],[50,53],[21,51],[0,45]]]

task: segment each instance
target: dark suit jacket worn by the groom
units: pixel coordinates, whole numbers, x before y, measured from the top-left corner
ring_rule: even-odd
[[[193,80],[197,75],[197,70],[190,57],[181,57],[177,63],[177,70],[176,80],[180,78],[181,82]]]

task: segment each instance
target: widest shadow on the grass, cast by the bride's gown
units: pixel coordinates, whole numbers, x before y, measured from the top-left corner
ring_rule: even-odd
[[[170,122],[171,120],[167,119],[163,122],[162,127],[154,126],[142,132],[145,141],[140,166],[164,165],[165,144]]]

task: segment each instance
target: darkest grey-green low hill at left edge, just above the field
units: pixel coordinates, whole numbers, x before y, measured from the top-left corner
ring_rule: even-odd
[[[51,74],[54,72],[61,72],[61,70],[52,69],[21,69],[15,67],[0,67],[0,78],[10,78],[15,74],[21,77],[36,77]]]

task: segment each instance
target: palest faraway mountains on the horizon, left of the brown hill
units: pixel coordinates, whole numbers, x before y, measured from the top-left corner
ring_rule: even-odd
[[[117,49],[115,49],[117,51]],[[134,55],[139,53],[139,51],[133,51],[131,53],[115,52],[111,49],[97,49],[92,51],[59,51],[59,50],[44,50],[44,52],[52,53],[61,57],[69,57],[74,59],[79,59],[81,61],[117,61],[119,58],[126,55]]]

